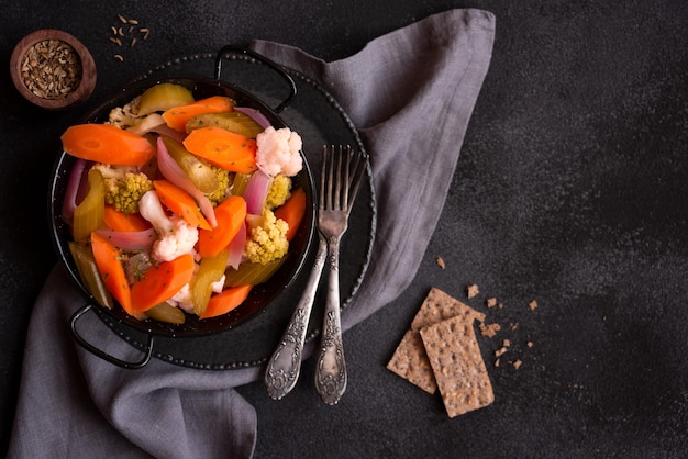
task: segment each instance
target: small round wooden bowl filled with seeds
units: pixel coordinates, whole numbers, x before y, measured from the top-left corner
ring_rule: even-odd
[[[96,63],[73,35],[42,29],[23,37],[10,58],[16,90],[47,110],[65,110],[84,102],[96,88]]]

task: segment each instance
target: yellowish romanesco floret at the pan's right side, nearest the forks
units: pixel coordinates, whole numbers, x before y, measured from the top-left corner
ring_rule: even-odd
[[[287,255],[289,250],[287,222],[277,219],[273,211],[266,209],[256,223],[251,227],[246,239],[244,248],[246,259],[266,265]]]

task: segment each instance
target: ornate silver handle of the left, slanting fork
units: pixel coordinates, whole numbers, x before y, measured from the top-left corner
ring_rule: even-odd
[[[318,283],[326,256],[328,244],[325,238],[321,235],[315,262],[308,278],[303,294],[265,371],[267,392],[270,398],[275,400],[280,400],[282,396],[287,395],[299,379],[308,321],[311,315],[313,300],[315,299]]]

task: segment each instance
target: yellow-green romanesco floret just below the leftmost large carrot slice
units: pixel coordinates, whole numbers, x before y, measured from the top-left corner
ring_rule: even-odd
[[[138,200],[153,189],[148,176],[130,166],[97,164],[93,168],[106,180],[106,203],[121,212],[138,212]]]

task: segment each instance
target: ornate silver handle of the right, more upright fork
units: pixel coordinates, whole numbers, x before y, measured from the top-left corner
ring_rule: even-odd
[[[346,390],[346,363],[340,318],[340,237],[328,239],[328,302],[315,367],[315,389],[321,399],[336,404]]]

